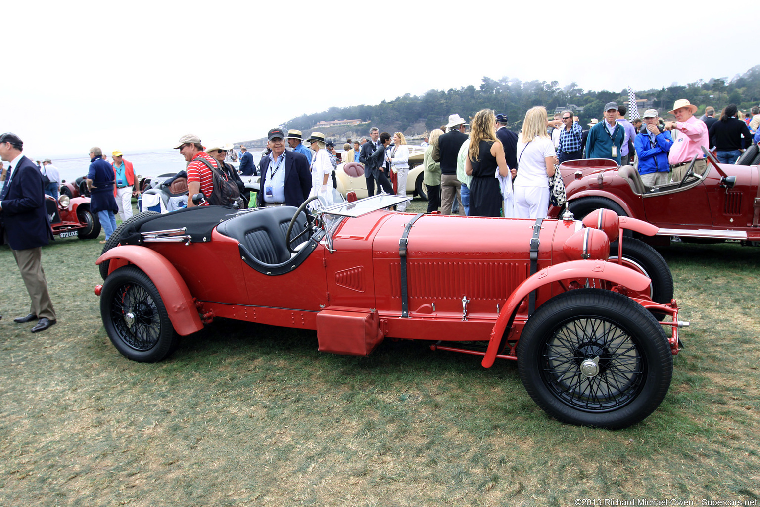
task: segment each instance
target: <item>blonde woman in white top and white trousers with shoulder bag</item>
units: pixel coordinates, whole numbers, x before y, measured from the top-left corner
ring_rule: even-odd
[[[534,107],[525,113],[518,138],[518,176],[513,182],[515,217],[546,217],[549,211],[549,178],[557,163],[552,138],[546,133],[546,109]]]

